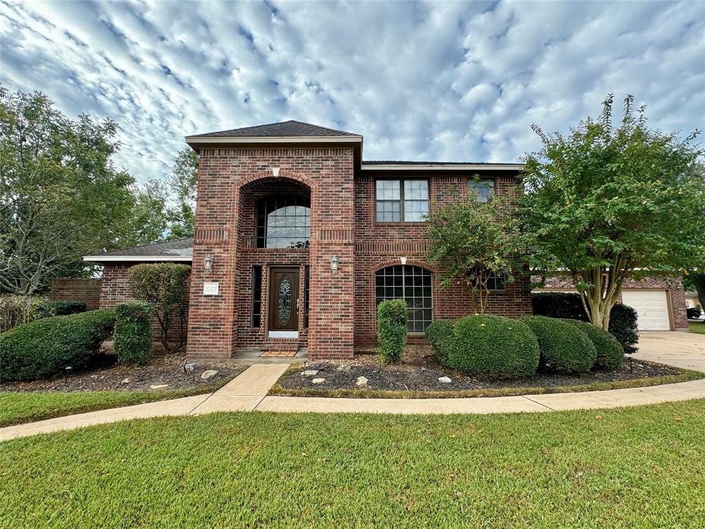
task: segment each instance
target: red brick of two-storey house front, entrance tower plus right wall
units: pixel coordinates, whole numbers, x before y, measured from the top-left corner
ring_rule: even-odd
[[[422,223],[374,220],[374,181],[390,174],[362,176],[352,148],[202,149],[189,315],[190,358],[230,358],[239,347],[285,349],[307,346],[309,358],[352,358],[355,346],[374,343],[374,274],[398,265],[433,269],[424,261]],[[276,171],[276,176],[275,175]],[[464,193],[474,172],[415,178],[429,181],[431,201]],[[487,175],[484,175],[487,176]],[[493,174],[496,192],[507,193],[515,176]],[[309,248],[256,248],[255,203],[268,195],[309,196]],[[212,273],[203,259],[213,257]],[[340,260],[331,272],[331,257]],[[309,325],[299,312],[298,339],[267,337],[269,267],[300,267],[300,300],[309,267]],[[252,326],[252,270],[262,267],[262,322]],[[217,296],[204,295],[204,282],[219,284]],[[441,291],[433,279],[434,319],[472,312],[465,288]],[[531,312],[528,281],[518,279],[493,294],[491,312],[519,316]],[[412,339],[417,336],[412,335]]]

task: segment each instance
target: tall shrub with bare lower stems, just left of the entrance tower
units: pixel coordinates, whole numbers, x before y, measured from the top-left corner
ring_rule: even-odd
[[[152,304],[161,329],[159,341],[168,352],[183,348],[184,327],[188,317],[191,267],[173,262],[135,265],[128,270],[130,296]],[[173,323],[178,322],[178,341],[168,341]]]

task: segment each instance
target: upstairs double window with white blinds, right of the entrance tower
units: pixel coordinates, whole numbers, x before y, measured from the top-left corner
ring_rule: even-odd
[[[378,180],[374,202],[377,222],[422,222],[429,214],[429,181]]]

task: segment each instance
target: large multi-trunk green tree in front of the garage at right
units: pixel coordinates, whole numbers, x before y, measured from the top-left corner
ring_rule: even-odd
[[[613,123],[613,96],[599,119],[568,133],[544,133],[525,156],[525,229],[534,236],[534,266],[572,276],[589,321],[608,329],[625,279],[680,275],[704,262],[703,150],[696,130],[680,139],[646,125],[645,108],[624,99]]]

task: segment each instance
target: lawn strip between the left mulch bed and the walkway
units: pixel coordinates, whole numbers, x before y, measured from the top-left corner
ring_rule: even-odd
[[[167,391],[0,391],[0,427],[210,393],[223,387],[232,378],[197,388]]]

